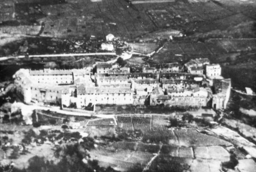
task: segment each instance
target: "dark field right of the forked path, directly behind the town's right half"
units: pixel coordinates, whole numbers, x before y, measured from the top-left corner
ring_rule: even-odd
[[[250,47],[250,48],[249,48]],[[152,63],[186,62],[192,58],[209,58],[212,63],[226,62],[227,57],[241,51],[256,50],[256,39],[211,39],[204,43],[168,42],[154,54]]]

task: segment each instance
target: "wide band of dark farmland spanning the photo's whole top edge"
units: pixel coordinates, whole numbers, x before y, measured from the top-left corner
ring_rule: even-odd
[[[0,12],[0,21],[20,20],[21,24],[27,26],[35,22],[44,23],[41,36],[62,38],[104,37],[112,33],[131,40],[164,28],[185,31],[187,34],[209,32],[251,21],[255,14],[255,3],[235,0],[221,3],[173,0],[157,3],[145,0],[131,3],[125,0],[66,0],[52,1],[50,4],[40,0],[6,2],[0,3],[3,6],[1,9],[4,9]],[[10,25],[8,22],[4,23],[5,26]]]

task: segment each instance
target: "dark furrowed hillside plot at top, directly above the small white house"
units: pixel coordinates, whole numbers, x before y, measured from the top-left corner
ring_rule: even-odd
[[[42,36],[84,37],[96,35],[105,37],[112,33],[125,39],[131,39],[152,32],[155,26],[145,14],[127,8],[124,0],[108,0],[101,3],[78,0],[76,3],[64,3],[42,6],[47,14]]]

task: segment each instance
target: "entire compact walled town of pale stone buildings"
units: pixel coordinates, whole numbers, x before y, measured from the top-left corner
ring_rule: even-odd
[[[190,60],[183,67],[178,63],[143,67],[142,72],[97,62],[84,69],[20,69],[14,77],[24,102],[78,109],[96,104],[222,109],[226,108],[231,89],[230,79],[221,77],[220,65],[210,64],[206,58]]]

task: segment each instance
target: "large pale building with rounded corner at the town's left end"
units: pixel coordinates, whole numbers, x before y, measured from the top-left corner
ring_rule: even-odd
[[[72,70],[29,70],[20,69],[15,75],[15,88],[24,102],[61,103],[61,93],[66,87],[74,86],[74,79],[92,85],[90,73],[85,69]],[[77,81],[78,82],[78,81]]]

